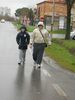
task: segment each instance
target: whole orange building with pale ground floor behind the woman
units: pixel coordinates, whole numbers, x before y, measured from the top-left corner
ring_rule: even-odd
[[[66,27],[67,6],[64,0],[46,0],[38,3],[37,15],[44,18],[47,26],[53,24],[61,29]]]

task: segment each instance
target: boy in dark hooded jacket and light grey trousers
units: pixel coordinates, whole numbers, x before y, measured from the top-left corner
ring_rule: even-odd
[[[19,65],[25,63],[26,50],[30,42],[30,36],[27,33],[26,27],[22,26],[20,30],[21,31],[16,36],[16,42],[19,48],[19,62],[18,62]]]

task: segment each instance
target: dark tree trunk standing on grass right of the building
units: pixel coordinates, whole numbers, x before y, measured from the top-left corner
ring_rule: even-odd
[[[67,7],[67,26],[66,26],[66,36],[65,39],[70,39],[70,31],[71,31],[71,8],[70,6]]]

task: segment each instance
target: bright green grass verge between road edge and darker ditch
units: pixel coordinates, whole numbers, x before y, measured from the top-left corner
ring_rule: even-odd
[[[61,67],[75,72],[75,56],[63,46],[53,43],[51,47],[46,48],[46,54],[57,61]]]

